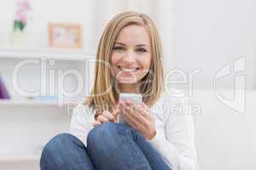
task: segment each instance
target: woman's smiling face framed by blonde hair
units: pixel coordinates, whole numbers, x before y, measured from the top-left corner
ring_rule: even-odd
[[[151,41],[144,26],[125,26],[113,44],[112,74],[119,82],[119,89],[133,91],[137,82],[148,73],[151,63]]]

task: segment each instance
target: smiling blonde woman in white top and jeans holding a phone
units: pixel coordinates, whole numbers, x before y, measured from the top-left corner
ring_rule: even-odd
[[[70,132],[45,145],[41,169],[194,170],[192,117],[177,110],[179,99],[163,94],[161,59],[160,37],[146,14],[110,20],[91,94],[74,110]],[[143,102],[122,101],[120,93],[142,94]]]

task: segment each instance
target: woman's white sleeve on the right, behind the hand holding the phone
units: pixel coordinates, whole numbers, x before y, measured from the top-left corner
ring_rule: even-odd
[[[177,110],[173,102],[162,105],[173,106],[164,111],[165,131],[156,131],[153,139],[149,140],[156,150],[160,151],[166,163],[174,170],[197,170],[195,152],[193,116]],[[179,102],[178,105],[183,105]],[[172,110],[173,109],[173,110]]]

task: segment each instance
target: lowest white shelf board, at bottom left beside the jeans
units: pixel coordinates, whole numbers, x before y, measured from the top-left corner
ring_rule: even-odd
[[[39,161],[38,155],[0,156],[0,162],[6,161]]]

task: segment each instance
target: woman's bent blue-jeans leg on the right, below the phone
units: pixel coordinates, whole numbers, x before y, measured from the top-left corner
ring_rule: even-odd
[[[87,149],[96,169],[150,169],[132,133],[131,127],[115,122],[90,130]]]

